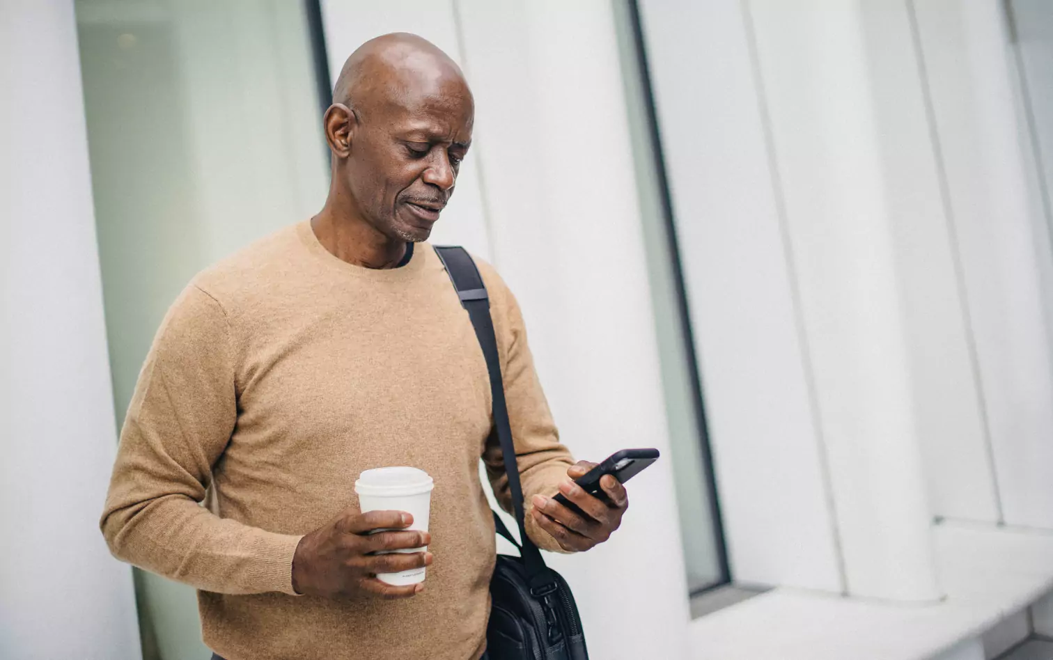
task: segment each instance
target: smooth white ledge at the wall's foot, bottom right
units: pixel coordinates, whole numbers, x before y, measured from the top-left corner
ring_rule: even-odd
[[[1053,589],[1053,532],[945,522],[933,534],[946,600],[903,605],[776,588],[693,621],[694,658],[934,658]]]

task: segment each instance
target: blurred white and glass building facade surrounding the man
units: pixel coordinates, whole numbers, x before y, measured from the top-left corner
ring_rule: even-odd
[[[552,558],[595,658],[1053,658],[1049,0],[0,0],[0,657],[208,657],[98,532],[119,425],[396,31],[476,96],[434,242],[579,458],[665,457]]]

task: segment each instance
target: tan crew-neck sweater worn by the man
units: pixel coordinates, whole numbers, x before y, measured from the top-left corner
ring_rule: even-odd
[[[573,459],[515,299],[479,268],[529,503],[554,493]],[[495,556],[480,456],[511,505],[500,447],[488,443],[489,383],[430,246],[370,269],[331,255],[307,222],[287,227],[198,275],[173,304],[124,422],[103,534],[118,558],[199,589],[204,641],[227,660],[478,658]],[[301,535],[357,508],[355,479],[382,465],[435,479],[424,592],[296,596]]]

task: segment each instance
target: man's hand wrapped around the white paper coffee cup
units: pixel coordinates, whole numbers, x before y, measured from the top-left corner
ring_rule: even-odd
[[[373,554],[423,547],[432,542],[426,532],[404,531],[412,524],[413,516],[405,512],[344,512],[300,539],[293,557],[293,588],[297,594],[326,598],[409,598],[419,594],[423,584],[395,586],[378,580],[377,574],[428,566],[432,563],[431,553]],[[370,534],[374,529],[396,531]]]

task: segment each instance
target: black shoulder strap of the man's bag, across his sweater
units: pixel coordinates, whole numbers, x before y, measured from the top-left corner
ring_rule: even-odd
[[[497,337],[494,335],[494,321],[490,317],[490,297],[486,295],[486,287],[482,283],[479,269],[476,268],[475,262],[466,249],[456,245],[436,245],[435,253],[442,261],[442,265],[445,266],[446,273],[454,283],[454,288],[457,289],[457,295],[460,297],[461,305],[468,311],[469,318],[472,319],[475,335],[479,339],[482,355],[486,359],[486,371],[490,372],[490,391],[494,402],[494,427],[501,444],[501,457],[504,460],[504,472],[509,478],[509,489],[512,491],[512,507],[516,515],[516,522],[519,523],[521,542],[515,543],[497,514],[494,514],[494,523],[499,533],[503,532],[501,536],[519,547],[531,585],[541,587],[552,582],[553,578],[544,565],[544,559],[541,558],[537,545],[526,535],[523,520],[523,492],[519,482],[515,444],[512,441],[512,426],[509,423],[509,406],[504,401],[504,383],[501,379],[501,362],[497,353]]]

